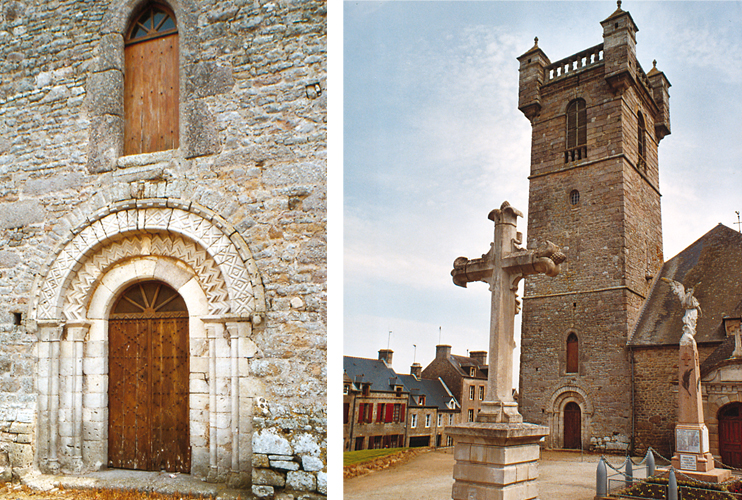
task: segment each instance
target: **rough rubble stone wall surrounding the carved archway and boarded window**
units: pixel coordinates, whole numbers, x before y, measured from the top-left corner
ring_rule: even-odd
[[[142,3],[0,1],[0,447],[12,467],[33,466],[43,368],[29,316],[54,252],[111,204],[175,199],[234,228],[262,280],[246,395],[253,453],[296,465],[269,460],[285,483],[254,482],[256,494],[324,494],[326,4],[170,2],[183,47],[181,148],[122,158],[115,29]],[[264,436],[288,446],[263,453]]]

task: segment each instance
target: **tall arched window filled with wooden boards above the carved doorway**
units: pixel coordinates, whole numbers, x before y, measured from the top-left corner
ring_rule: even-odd
[[[129,27],[124,48],[124,154],[178,147],[178,28],[173,12],[150,4]]]

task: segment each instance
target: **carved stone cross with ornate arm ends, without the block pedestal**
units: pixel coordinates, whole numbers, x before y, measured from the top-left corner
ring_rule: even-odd
[[[517,218],[523,214],[506,201],[492,210],[488,218],[495,222],[495,239],[490,250],[479,259],[459,257],[453,263],[453,282],[462,287],[472,281],[489,284],[492,293],[490,311],[489,373],[487,395],[478,422],[522,422],[518,403],[513,399],[513,349],[515,315],[519,312],[516,295],[518,282],[529,274],[559,274],[566,257],[551,242],[537,250],[520,248],[523,235],[516,231]]]

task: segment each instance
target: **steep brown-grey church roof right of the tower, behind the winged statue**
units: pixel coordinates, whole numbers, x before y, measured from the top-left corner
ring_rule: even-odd
[[[629,340],[629,346],[677,345],[683,333],[684,310],[669,284],[660,278],[694,287],[702,315],[696,342],[726,339],[723,318],[742,310],[742,234],[717,225],[688,248],[665,262]]]

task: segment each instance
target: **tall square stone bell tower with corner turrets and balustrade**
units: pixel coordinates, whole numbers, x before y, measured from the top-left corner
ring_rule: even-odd
[[[663,263],[658,145],[670,133],[670,82],[636,60],[621,9],[603,42],[552,63],[536,43],[518,58],[518,107],[532,125],[529,247],[567,261],[525,283],[520,411],[551,448],[630,446],[626,343]]]

